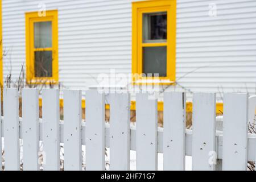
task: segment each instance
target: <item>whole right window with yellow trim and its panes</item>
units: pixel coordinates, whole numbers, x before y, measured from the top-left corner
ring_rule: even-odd
[[[175,82],[176,0],[133,3],[132,72],[134,82]],[[149,83],[149,82],[147,82]]]

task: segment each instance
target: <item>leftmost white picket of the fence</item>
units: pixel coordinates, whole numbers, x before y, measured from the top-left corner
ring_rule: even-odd
[[[18,89],[3,89],[5,136],[5,170],[20,169],[19,156],[19,95]]]

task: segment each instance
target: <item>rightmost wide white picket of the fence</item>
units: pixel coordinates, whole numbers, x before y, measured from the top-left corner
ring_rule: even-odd
[[[247,169],[248,94],[224,94],[223,170]]]

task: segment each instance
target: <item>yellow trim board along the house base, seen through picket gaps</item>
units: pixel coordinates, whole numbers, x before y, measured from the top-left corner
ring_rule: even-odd
[[[42,98],[39,98],[39,106],[42,107]],[[63,107],[63,98],[60,98],[60,107]],[[85,109],[85,100],[82,100],[82,109]],[[109,104],[106,104],[106,109],[110,109]],[[192,102],[187,102],[187,112],[191,113],[193,111],[193,104]],[[131,101],[131,110],[136,110],[136,101]],[[158,102],[158,111],[163,111],[163,101]],[[256,111],[256,110],[255,110]],[[216,114],[222,114],[223,113],[223,103],[218,102],[216,104]]]

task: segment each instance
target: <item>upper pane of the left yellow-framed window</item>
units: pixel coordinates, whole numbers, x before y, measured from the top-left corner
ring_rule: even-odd
[[[35,48],[52,47],[52,22],[34,23]]]

